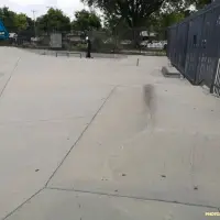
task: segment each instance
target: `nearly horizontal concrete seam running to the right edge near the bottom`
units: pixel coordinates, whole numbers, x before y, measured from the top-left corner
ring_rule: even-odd
[[[135,197],[135,196],[128,196],[128,195],[120,195],[120,194],[110,194],[110,193],[101,193],[101,191],[79,190],[79,189],[65,189],[65,188],[58,188],[58,187],[45,187],[45,189],[58,190],[58,191],[69,191],[69,193],[92,194],[92,195],[98,195],[98,196],[109,196],[109,197],[117,197],[117,198],[128,198],[128,199],[143,200],[143,201],[158,201],[158,202],[166,202],[166,204],[177,204],[177,205],[184,205],[184,206],[190,206],[190,207],[211,208],[211,209],[217,209],[217,210],[219,209],[218,207],[208,206],[208,205],[182,202],[182,201],[166,200],[166,199],[154,199],[154,198],[147,198],[147,197]]]

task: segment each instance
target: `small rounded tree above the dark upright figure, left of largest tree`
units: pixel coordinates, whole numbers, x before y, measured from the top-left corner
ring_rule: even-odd
[[[91,31],[101,29],[101,19],[95,13],[86,10],[75,12],[72,28],[76,31]]]

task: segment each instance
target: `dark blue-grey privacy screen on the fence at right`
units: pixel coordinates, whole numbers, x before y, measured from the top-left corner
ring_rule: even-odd
[[[220,0],[168,28],[167,56],[194,85],[220,95]]]

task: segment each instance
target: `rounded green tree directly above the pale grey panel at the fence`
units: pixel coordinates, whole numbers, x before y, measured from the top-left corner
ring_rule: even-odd
[[[47,13],[37,18],[37,30],[43,32],[68,32],[70,31],[70,20],[62,10],[48,9]]]

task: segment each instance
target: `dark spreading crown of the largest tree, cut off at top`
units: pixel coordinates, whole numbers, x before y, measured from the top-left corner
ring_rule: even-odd
[[[148,16],[157,11],[165,0],[82,0],[98,7],[106,15],[124,19],[130,28],[143,26]]]

